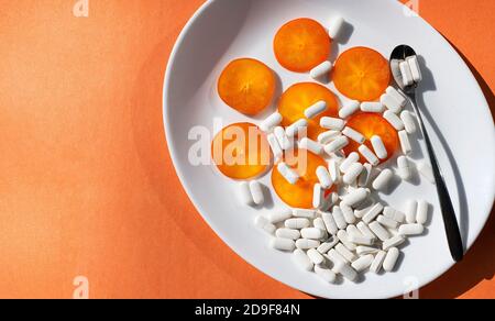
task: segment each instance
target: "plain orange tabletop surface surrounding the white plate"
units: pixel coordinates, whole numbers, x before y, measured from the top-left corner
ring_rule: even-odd
[[[0,297],[307,298],[232,253],[175,175],[172,46],[202,0],[0,0]],[[495,1],[420,0],[495,107]],[[476,71],[477,70],[477,71]],[[495,298],[495,218],[422,298]]]

